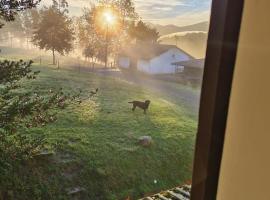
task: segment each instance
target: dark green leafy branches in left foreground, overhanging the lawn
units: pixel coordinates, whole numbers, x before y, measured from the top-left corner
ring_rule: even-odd
[[[55,122],[57,110],[78,98],[65,95],[61,89],[45,94],[26,92],[22,81],[34,80],[39,74],[32,71],[31,64],[32,61],[22,60],[0,62],[0,197],[2,192],[3,198],[7,191],[18,194],[28,184],[19,170],[44,150],[44,136],[30,136],[29,130]]]

